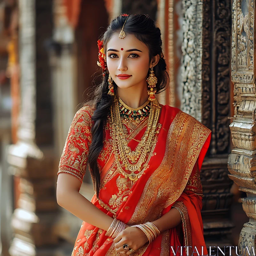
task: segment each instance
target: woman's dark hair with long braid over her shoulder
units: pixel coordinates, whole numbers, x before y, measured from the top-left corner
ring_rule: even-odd
[[[125,20],[126,23],[124,25]],[[164,56],[162,55],[161,31],[156,27],[156,22],[148,15],[144,14],[132,14],[128,17],[120,15],[111,20],[106,32],[101,38],[104,46],[108,44],[108,41],[114,33],[119,33],[121,31],[123,25],[124,32],[126,34],[136,36],[136,38],[148,46],[150,61],[152,61],[153,57],[157,54],[160,56],[160,60],[154,67],[154,72],[157,77],[156,93],[164,91],[166,84],[169,84],[169,75],[166,71],[166,62],[164,60]],[[104,51],[106,55],[106,47],[104,47]],[[114,91],[116,93],[117,87],[114,81],[113,84]],[[91,128],[92,142],[89,148],[87,162],[89,164],[97,198],[99,198],[100,192],[100,171],[97,164],[97,158],[103,148],[103,141],[105,139],[103,128],[107,123],[107,116],[110,111],[110,106],[113,104],[113,96],[108,95],[108,90],[108,74],[106,73],[106,75],[103,77],[102,83],[97,86],[96,90],[94,91],[92,100],[85,103],[85,105],[91,105],[95,109],[92,115],[92,121],[94,124]]]

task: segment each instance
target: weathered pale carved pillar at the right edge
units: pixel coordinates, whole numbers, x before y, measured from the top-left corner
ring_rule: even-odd
[[[232,5],[232,81],[235,114],[230,130],[234,149],[228,156],[229,178],[246,192],[243,209],[250,218],[240,233],[238,246],[255,246],[256,236],[256,86],[254,24],[252,0],[233,0]]]

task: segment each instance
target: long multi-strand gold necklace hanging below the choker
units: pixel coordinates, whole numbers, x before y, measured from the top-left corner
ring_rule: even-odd
[[[128,177],[130,180],[137,180],[141,177],[144,170],[142,165],[146,160],[147,153],[151,150],[151,144],[156,134],[157,122],[160,113],[160,106],[155,100],[150,103],[150,114],[148,117],[148,126],[146,132],[142,136],[139,144],[137,145],[135,151],[132,151],[128,147],[127,140],[122,128],[122,122],[120,118],[119,108],[118,108],[118,99],[117,96],[114,98],[113,105],[110,108],[111,115],[111,137],[113,139],[114,153],[116,157],[116,164],[119,172],[123,173],[125,177]],[[132,162],[132,164],[129,162]],[[138,160],[138,161],[137,161]],[[121,164],[122,162],[122,164]],[[132,173],[126,173],[123,170],[123,167]],[[139,173],[134,173],[139,171]]]

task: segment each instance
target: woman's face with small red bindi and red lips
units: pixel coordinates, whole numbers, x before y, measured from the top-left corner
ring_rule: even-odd
[[[119,39],[118,35],[116,32],[107,44],[107,67],[111,77],[120,88],[146,83],[149,69],[148,47],[134,35],[126,34],[124,39]]]

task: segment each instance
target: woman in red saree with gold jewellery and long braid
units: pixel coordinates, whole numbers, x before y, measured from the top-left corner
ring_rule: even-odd
[[[168,84],[159,28],[123,14],[98,46],[103,81],[76,112],[58,171],[58,204],[84,220],[72,255],[206,255],[199,172],[211,131],[156,100]],[[87,164],[91,202],[79,194]]]

